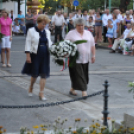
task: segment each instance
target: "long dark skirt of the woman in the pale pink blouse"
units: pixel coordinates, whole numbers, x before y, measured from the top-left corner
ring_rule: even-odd
[[[69,67],[71,86],[74,90],[87,90],[87,84],[89,82],[88,66],[89,63],[76,63],[74,67]]]

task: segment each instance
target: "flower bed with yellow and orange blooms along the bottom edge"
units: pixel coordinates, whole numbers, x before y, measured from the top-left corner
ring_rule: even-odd
[[[100,124],[100,121],[92,121],[89,127],[80,127],[80,118],[75,119],[74,126],[68,129],[63,129],[67,119],[61,120],[60,117],[53,124],[33,126],[33,130],[22,127],[19,134],[134,134],[133,128],[125,128],[124,122],[121,123],[118,129],[115,128],[115,121],[112,120],[111,129]],[[85,120],[87,122],[87,120]],[[6,134],[6,129],[0,126],[0,134]],[[12,133],[13,134],[13,133]]]

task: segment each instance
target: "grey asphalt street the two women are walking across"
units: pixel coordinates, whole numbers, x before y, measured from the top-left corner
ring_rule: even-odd
[[[0,105],[29,105],[42,104],[56,101],[70,100],[75,97],[69,95],[70,78],[68,69],[61,72],[62,67],[56,65],[51,58],[51,76],[47,79],[45,96],[46,102],[38,98],[39,78],[34,87],[34,96],[28,97],[30,77],[22,77],[21,70],[25,63],[25,37],[13,37],[11,49],[12,68],[2,68],[0,64]],[[128,93],[129,81],[134,81],[134,57],[121,54],[110,54],[109,50],[97,49],[96,62],[89,66],[90,82],[88,94],[104,89],[104,81],[108,80],[109,117],[118,121],[123,120],[124,113],[134,115],[133,94]],[[2,77],[2,76],[21,77]],[[81,97],[81,92],[78,92]],[[8,132],[18,132],[21,126],[32,128],[39,124],[52,124],[60,116],[68,118],[65,128],[74,125],[75,118],[87,119],[82,121],[81,126],[89,126],[92,119],[103,117],[103,96],[95,96],[87,100],[72,102],[65,105],[34,108],[34,109],[0,109],[0,126],[4,126]]]

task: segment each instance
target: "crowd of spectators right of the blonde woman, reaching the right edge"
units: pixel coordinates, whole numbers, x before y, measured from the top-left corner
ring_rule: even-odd
[[[65,35],[75,28],[74,21],[76,18],[85,20],[84,29],[92,33],[96,46],[99,43],[108,42],[108,47],[111,48],[110,53],[115,53],[117,50],[124,55],[133,55],[133,10],[127,10],[126,13],[121,13],[119,9],[114,9],[112,13],[110,13],[109,9],[104,12],[101,12],[100,9],[97,11],[94,9],[89,10],[89,12],[88,10],[83,10],[83,12],[78,10],[78,12],[72,12],[69,15],[67,13],[62,14],[58,10],[51,20],[51,24],[55,27],[55,42],[57,42],[57,39],[64,39]],[[129,30],[128,27],[130,28]],[[125,31],[129,32],[125,36],[121,36],[122,34],[124,35]],[[57,34],[59,35],[58,37]],[[120,45],[120,40],[122,39],[124,42]]]

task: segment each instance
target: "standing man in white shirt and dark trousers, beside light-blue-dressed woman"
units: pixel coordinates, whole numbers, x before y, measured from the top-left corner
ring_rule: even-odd
[[[112,15],[109,14],[109,9],[106,9],[105,14],[102,17],[104,42],[107,41],[106,33],[107,33],[107,24],[109,19],[112,19]]]

